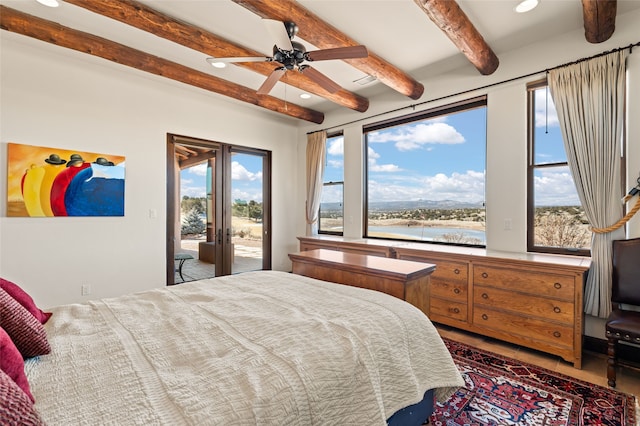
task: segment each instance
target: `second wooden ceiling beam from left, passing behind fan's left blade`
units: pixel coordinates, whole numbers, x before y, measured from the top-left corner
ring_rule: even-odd
[[[65,0],[65,2],[147,31],[158,37],[171,40],[174,43],[202,52],[207,56],[222,58],[271,55],[271,52],[265,55],[235,44],[203,28],[176,20],[134,0]],[[277,64],[269,62],[239,62],[234,63],[234,65],[250,69],[264,76],[269,76],[274,68],[277,67]],[[369,100],[367,98],[345,89],[340,89],[336,93],[329,93],[303,73],[289,72],[284,81],[286,81],[286,84],[355,111],[365,112],[369,108]]]

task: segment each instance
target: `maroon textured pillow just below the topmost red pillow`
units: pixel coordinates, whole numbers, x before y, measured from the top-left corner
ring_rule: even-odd
[[[44,325],[1,288],[0,327],[11,337],[24,358],[51,352]]]

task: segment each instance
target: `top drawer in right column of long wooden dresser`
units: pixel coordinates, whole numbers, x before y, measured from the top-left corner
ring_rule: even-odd
[[[571,301],[575,297],[574,277],[570,275],[475,265],[473,282],[475,285],[518,290]]]

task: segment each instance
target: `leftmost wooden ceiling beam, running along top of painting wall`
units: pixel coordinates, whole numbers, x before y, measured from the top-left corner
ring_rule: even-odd
[[[316,124],[324,121],[324,114],[321,112],[273,96],[257,95],[254,89],[3,5],[0,5],[0,28],[219,93],[293,118]]]

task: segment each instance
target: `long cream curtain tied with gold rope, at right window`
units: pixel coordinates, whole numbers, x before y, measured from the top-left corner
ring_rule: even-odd
[[[627,50],[549,72],[567,161],[580,202],[593,228],[622,217],[620,156]],[[606,318],[611,311],[611,242],[623,228],[594,233],[592,264],[584,293],[585,313]]]

